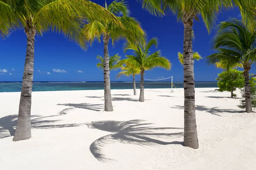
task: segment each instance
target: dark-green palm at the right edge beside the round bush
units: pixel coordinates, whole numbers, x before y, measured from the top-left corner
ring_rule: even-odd
[[[221,62],[227,70],[239,64],[244,68],[245,111],[252,112],[250,96],[249,71],[256,62],[256,30],[250,30],[241,20],[235,18],[221,22],[219,31],[214,37],[213,48],[217,50],[208,56],[209,63]]]

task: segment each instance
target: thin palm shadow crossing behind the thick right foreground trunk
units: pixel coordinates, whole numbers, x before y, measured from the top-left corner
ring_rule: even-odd
[[[180,106],[180,105],[175,105],[171,108],[175,108],[175,109],[184,109],[184,106]],[[202,105],[196,105],[195,110],[197,111],[206,111],[207,113],[211,113],[213,115],[216,116],[221,116],[219,113],[244,113],[244,111],[239,111],[239,110],[230,110],[230,109],[218,109],[219,107],[214,107],[214,108],[207,108],[205,106]]]

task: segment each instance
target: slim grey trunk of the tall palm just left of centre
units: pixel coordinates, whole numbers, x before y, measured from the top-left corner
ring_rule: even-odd
[[[111,102],[111,87],[109,77],[109,55],[108,55],[108,36],[103,36],[104,41],[104,102],[105,111],[113,111]]]

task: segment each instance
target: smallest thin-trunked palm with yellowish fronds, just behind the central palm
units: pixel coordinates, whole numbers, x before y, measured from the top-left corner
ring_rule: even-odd
[[[119,78],[121,76],[127,76],[127,77],[132,76],[133,77],[134,95],[137,95],[136,83],[135,83],[135,75],[136,74],[140,74],[140,68],[134,68],[132,66],[125,65],[125,67],[122,66],[121,72],[116,75],[116,78]]]

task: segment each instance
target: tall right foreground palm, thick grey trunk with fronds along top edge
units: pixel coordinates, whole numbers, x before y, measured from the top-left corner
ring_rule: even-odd
[[[143,8],[154,15],[171,11],[184,25],[184,146],[197,149],[198,136],[195,119],[195,80],[192,58],[192,26],[201,15],[208,32],[217,20],[218,12],[224,8],[239,7],[242,20],[253,31],[256,28],[255,0],[140,0]]]

